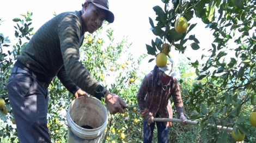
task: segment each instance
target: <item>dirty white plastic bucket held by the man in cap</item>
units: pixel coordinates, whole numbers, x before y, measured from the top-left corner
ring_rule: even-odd
[[[100,142],[107,127],[107,109],[100,100],[81,96],[71,102],[66,119],[68,143]]]

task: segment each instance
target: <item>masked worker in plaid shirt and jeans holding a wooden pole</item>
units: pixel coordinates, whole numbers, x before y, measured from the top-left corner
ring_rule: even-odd
[[[154,118],[172,118],[170,98],[173,98],[181,125],[186,125],[183,102],[180,95],[178,80],[174,72],[174,62],[168,58],[163,68],[155,66],[154,70],[146,75],[138,90],[137,101],[143,116],[143,142],[149,143],[153,139],[155,124],[157,126],[157,139],[159,143],[167,143],[168,126],[171,122],[154,122]]]

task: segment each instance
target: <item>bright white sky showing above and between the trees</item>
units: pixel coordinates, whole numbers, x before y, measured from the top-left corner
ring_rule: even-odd
[[[42,24],[47,22],[53,17],[54,12],[60,14],[65,11],[75,11],[82,9],[82,3],[85,0],[9,0],[1,2],[0,18],[5,20],[1,23],[0,33],[4,36],[9,36],[9,40],[16,41],[14,36],[14,25],[13,18],[21,17],[20,14],[26,13],[27,11],[33,12],[32,16],[32,27],[34,30],[40,28]],[[129,48],[129,52],[133,56],[139,56],[141,54],[147,54],[145,44],[151,45],[151,40],[155,40],[156,36],[150,30],[149,17],[151,17],[156,24],[155,11],[153,7],[159,5],[164,6],[161,0],[108,0],[109,10],[111,10],[115,16],[115,20],[111,23],[111,27],[114,29],[115,40],[121,40],[127,36],[128,42],[132,43]],[[199,46],[201,49],[208,49],[211,47],[211,43],[214,40],[212,33],[209,28],[205,28],[204,24],[199,18],[192,18],[189,23],[198,23],[197,26],[190,32],[189,35],[195,35],[200,41]],[[189,36],[188,35],[188,36]],[[10,48],[14,44],[10,44]],[[187,42],[187,51],[185,54],[181,54],[178,51],[172,51],[172,57],[174,62],[178,62],[181,57],[190,57],[192,62],[200,60],[202,53],[201,49],[194,51]],[[154,56],[147,56],[143,61],[144,66],[143,72],[149,72],[155,66],[155,61],[148,63],[149,59]]]

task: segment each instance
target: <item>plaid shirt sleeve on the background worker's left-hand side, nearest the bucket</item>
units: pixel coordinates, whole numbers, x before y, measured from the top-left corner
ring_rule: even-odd
[[[141,111],[141,114],[143,116],[143,119],[147,121],[150,118],[148,108],[146,106],[146,101],[145,101],[145,96],[148,93],[149,89],[149,76],[145,76],[142,83],[141,87],[139,87],[138,93],[137,93],[137,101],[138,101],[138,106]]]

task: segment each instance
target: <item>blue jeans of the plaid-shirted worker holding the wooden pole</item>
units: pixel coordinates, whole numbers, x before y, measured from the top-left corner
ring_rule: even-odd
[[[151,143],[153,139],[153,131],[157,126],[157,140],[158,143],[167,143],[168,141],[168,127],[164,126],[163,122],[153,122],[148,125],[143,120],[143,143]]]

